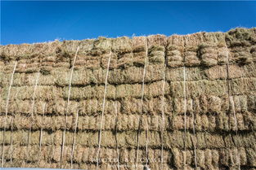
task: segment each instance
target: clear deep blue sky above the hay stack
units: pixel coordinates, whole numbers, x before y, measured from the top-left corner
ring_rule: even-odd
[[[256,2],[1,2],[2,45],[255,26]]]

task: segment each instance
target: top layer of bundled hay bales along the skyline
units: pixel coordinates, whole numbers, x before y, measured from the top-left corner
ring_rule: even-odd
[[[145,56],[148,56],[149,63],[164,64],[166,61],[171,68],[200,64],[209,67],[226,64],[228,61],[246,64],[256,61],[256,28],[236,28],[227,33],[194,33],[185,36],[99,37],[83,41],[7,45],[0,46],[0,62],[33,58],[43,60],[49,56],[71,61],[78,46],[82,58],[104,58],[112,51],[115,55],[113,59],[119,60],[120,65],[124,63],[122,66],[131,64],[131,58],[132,64],[144,65]]]

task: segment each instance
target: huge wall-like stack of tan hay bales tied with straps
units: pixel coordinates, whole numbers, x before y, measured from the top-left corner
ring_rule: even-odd
[[[256,28],[8,45],[0,57],[3,167],[135,169],[139,138],[138,169],[146,155],[151,169],[256,168]]]

